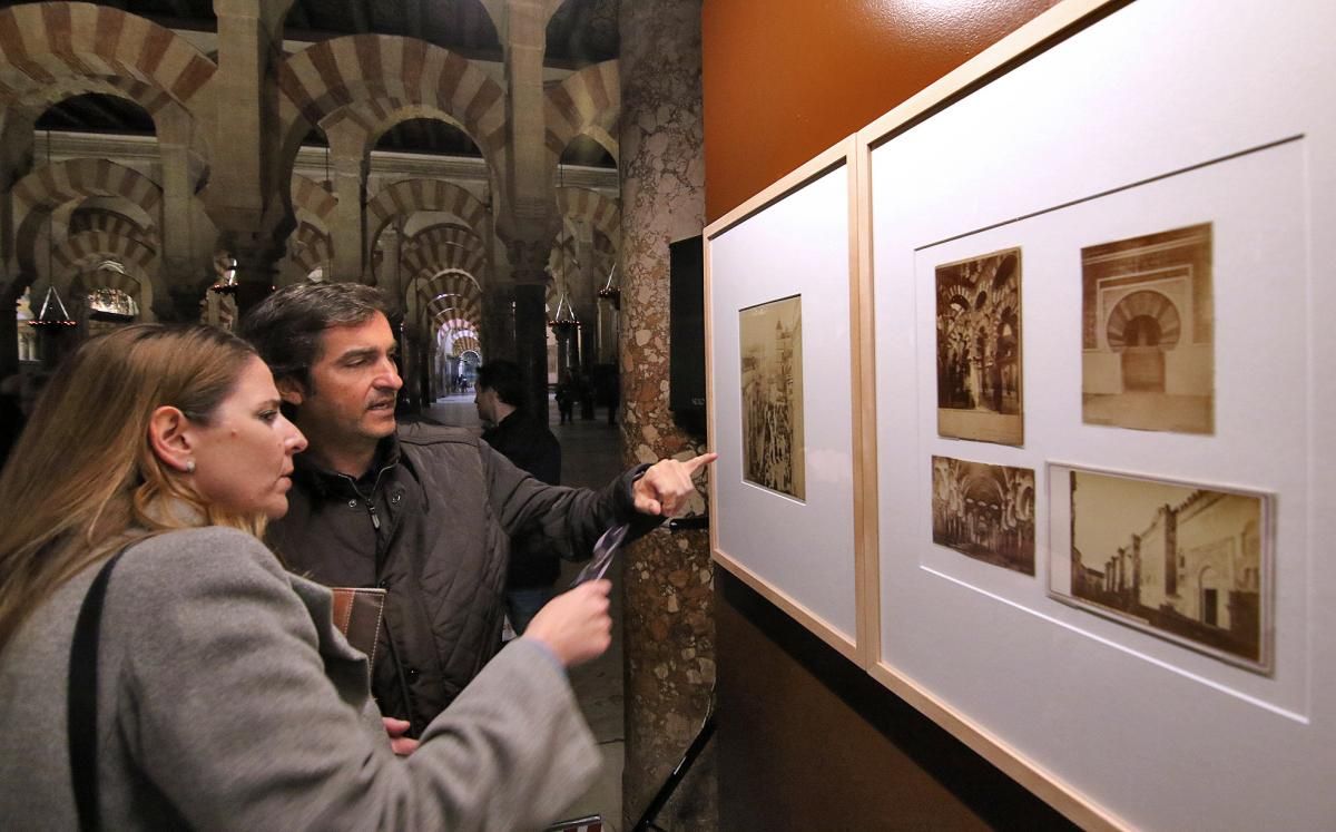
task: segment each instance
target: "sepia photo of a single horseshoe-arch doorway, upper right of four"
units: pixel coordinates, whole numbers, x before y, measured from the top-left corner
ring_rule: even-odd
[[[1081,417],[1214,433],[1209,222],[1081,249]]]

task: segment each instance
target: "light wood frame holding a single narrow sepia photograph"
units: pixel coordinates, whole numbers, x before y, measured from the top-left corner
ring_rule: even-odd
[[[705,229],[705,400],[715,562],[858,661],[868,491],[855,432],[870,385],[851,371],[851,151],[842,142]]]

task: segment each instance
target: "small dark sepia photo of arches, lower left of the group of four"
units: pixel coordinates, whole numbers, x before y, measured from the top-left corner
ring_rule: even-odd
[[[1034,574],[1034,471],[933,457],[933,542]]]

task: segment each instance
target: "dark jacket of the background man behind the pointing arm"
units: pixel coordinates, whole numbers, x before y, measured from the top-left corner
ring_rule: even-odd
[[[561,443],[546,424],[530,419],[524,411],[514,411],[484,431],[482,441],[534,479],[549,486],[561,484]],[[552,586],[560,575],[561,559],[548,547],[541,531],[510,540],[508,589]]]

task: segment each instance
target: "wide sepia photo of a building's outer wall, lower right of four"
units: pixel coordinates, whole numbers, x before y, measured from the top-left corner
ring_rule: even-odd
[[[1054,597],[1269,671],[1265,495],[1078,470],[1065,479],[1071,564]]]

